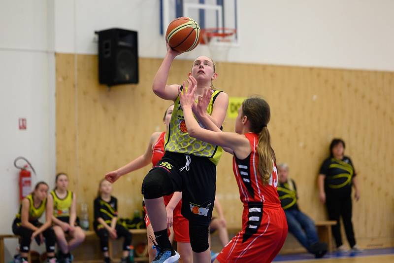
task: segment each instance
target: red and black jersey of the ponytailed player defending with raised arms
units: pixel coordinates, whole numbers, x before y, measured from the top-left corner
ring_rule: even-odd
[[[235,154],[233,157],[233,171],[239,188],[239,195],[244,204],[250,202],[259,202],[263,204],[280,205],[277,192],[278,171],[275,162],[273,162],[273,171],[268,184],[263,184],[262,177],[259,173],[259,153],[257,146],[259,135],[256,133],[246,133],[245,137],[249,140],[251,153],[248,157],[241,160]]]

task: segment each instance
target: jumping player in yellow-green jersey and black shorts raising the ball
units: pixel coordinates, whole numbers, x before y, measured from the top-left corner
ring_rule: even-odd
[[[182,215],[189,220],[193,261],[208,263],[208,228],[215,200],[216,164],[222,149],[191,138],[187,132],[179,104],[180,85],[166,84],[171,64],[179,54],[167,44],[167,53],[153,80],[154,93],[162,99],[174,101],[174,111],[165,136],[164,157],[144,178],[142,194],[160,249],[153,262],[172,263],[179,257],[168,240],[163,196],[182,191]],[[197,95],[202,95],[205,87],[212,86],[212,80],[218,76],[213,61],[205,56],[198,57],[193,62],[188,75],[190,83],[197,85]],[[217,127],[221,127],[229,104],[228,95],[214,89],[210,89],[210,93],[212,99],[207,109],[208,118]],[[203,120],[201,124],[205,125]]]

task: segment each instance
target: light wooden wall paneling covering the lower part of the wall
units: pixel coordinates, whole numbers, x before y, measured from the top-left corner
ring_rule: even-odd
[[[108,91],[98,83],[97,56],[56,55],[57,169],[70,174],[72,188],[91,214],[103,175],[142,154],[150,134],[164,129],[162,117],[170,102],[151,90],[161,61],[140,58],[140,83]],[[175,60],[168,83],[186,80],[191,65]],[[278,162],[289,163],[300,207],[315,220],[327,218],[317,194],[320,165],[331,139],[343,138],[359,172],[356,237],[363,245],[392,242],[394,73],[239,63],[217,63],[217,71],[214,85],[229,96],[260,94],[270,104],[268,128]],[[234,120],[226,119],[223,126],[233,131]],[[242,204],[231,159],[224,153],[218,165],[217,196],[228,225],[234,227],[241,224]],[[114,184],[121,216],[141,207],[140,188],[148,170]]]

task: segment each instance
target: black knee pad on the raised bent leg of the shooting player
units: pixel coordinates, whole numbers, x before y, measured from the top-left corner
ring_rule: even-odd
[[[160,169],[152,169],[142,182],[141,193],[145,199],[154,199],[173,192],[168,175]]]

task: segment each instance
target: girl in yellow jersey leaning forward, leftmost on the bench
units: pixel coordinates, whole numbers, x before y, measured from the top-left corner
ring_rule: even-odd
[[[48,255],[48,263],[56,263],[55,258],[55,233],[51,227],[53,211],[52,200],[47,199],[48,185],[38,182],[31,194],[23,198],[12,224],[12,232],[21,237],[21,254],[15,256],[15,262],[28,263],[30,243],[36,240],[38,244],[44,242]],[[45,223],[41,224],[38,219],[45,212]]]

